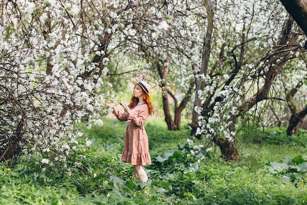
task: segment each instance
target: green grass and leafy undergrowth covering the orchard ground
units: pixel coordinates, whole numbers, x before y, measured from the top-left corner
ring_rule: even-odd
[[[307,155],[305,132],[287,138],[284,130],[265,130],[261,143],[252,136],[238,134],[236,144],[239,162],[225,162],[219,148],[213,146],[201,163],[186,157],[189,147],[187,127],[168,131],[163,119],[150,117],[145,127],[149,136],[153,164],[146,166],[149,181],[135,180],[133,167],[120,160],[125,122],[103,118],[102,127],[87,130],[84,135],[92,146],[82,152],[83,167],[68,165],[64,169],[41,172],[40,163],[10,162],[0,164],[1,205],[305,205],[306,174],[285,181],[268,171],[270,162],[281,162],[285,156]],[[195,145],[202,142],[194,140]],[[165,157],[165,152],[170,153]],[[167,160],[159,162],[157,156]],[[193,172],[191,172],[193,168]],[[69,174],[67,170],[70,170]],[[144,194],[146,190],[149,195]]]

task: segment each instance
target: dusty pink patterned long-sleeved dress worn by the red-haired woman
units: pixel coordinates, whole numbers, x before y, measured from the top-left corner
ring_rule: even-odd
[[[122,161],[129,162],[132,165],[150,165],[152,164],[149,154],[148,137],[144,124],[149,117],[147,104],[138,104],[126,112],[119,113],[116,116],[120,121],[128,121]]]

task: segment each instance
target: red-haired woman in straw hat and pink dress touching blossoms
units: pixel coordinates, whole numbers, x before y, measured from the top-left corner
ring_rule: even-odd
[[[113,108],[113,114],[120,121],[128,121],[122,161],[131,163],[134,166],[134,177],[146,182],[148,176],[143,166],[152,164],[152,161],[144,124],[147,118],[153,115],[153,104],[149,98],[148,83],[140,81],[133,84],[133,96],[129,105],[121,104],[124,113],[119,112],[113,103],[106,103],[106,106]]]

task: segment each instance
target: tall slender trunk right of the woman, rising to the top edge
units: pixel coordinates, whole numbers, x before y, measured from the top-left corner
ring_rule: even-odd
[[[206,76],[207,70],[208,70],[210,51],[211,51],[211,36],[212,36],[212,31],[213,31],[213,9],[212,9],[211,0],[205,0],[205,6],[208,12],[208,26],[207,26],[205,42],[203,46],[203,59],[202,59],[200,74],[204,74]],[[196,90],[195,90],[195,100],[194,100],[193,108],[201,107],[201,99],[199,98],[198,90],[203,90],[204,88],[205,88],[205,82],[202,79],[199,79]],[[198,117],[199,117],[199,114],[193,109],[192,123],[191,123],[192,130],[190,133],[191,136],[195,135],[196,133],[196,130],[198,127]],[[195,137],[197,139],[200,139],[201,136],[195,136]]]

